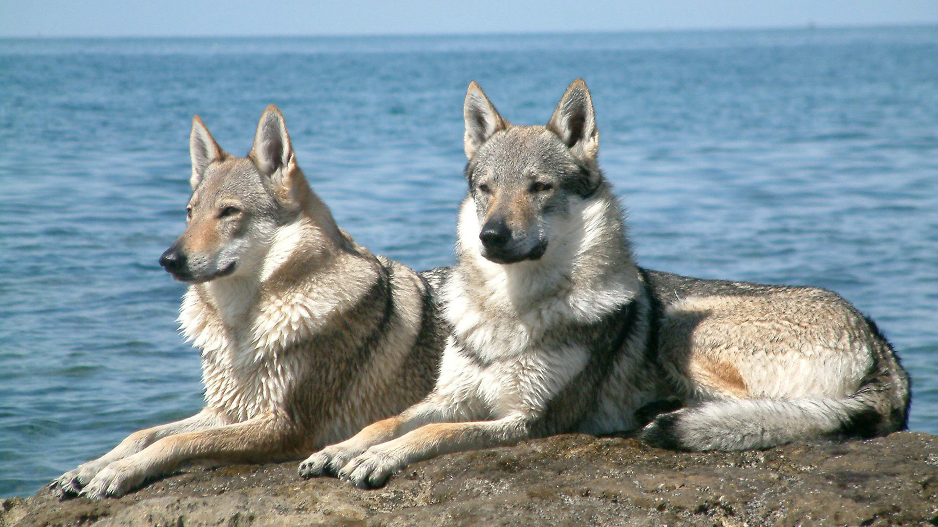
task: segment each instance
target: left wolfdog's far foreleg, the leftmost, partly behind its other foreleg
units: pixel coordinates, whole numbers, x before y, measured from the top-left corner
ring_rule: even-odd
[[[110,452],[98,459],[83,463],[78,468],[62,474],[49,484],[51,489],[57,489],[62,496],[77,495],[91,479],[108,464],[118,459],[124,459],[140,452],[155,441],[181,432],[209,429],[224,424],[218,414],[203,410],[198,414],[185,419],[159,425],[149,429],[142,429],[130,434],[124,441],[114,446]]]

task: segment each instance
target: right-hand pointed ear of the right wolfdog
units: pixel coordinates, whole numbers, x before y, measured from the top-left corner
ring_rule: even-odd
[[[564,97],[553,111],[547,128],[561,141],[567,143],[573,155],[587,160],[596,160],[599,150],[599,130],[596,128],[596,113],[593,99],[582,79],[570,84]]]

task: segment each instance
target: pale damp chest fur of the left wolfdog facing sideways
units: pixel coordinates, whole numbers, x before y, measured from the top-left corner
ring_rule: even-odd
[[[202,351],[205,403],[243,421],[294,399],[291,390],[310,377],[316,336],[356,304],[368,280],[346,279],[336,289],[310,279],[279,292],[237,280],[189,288],[179,322]]]

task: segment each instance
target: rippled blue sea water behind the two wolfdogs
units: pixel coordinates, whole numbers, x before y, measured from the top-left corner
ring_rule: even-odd
[[[938,433],[938,27],[0,39],[0,496],[201,407],[157,264],[193,113],[243,154],[277,104],[340,225],[422,269],[453,262],[467,83],[544,123],[577,77],[641,264],[839,292]]]

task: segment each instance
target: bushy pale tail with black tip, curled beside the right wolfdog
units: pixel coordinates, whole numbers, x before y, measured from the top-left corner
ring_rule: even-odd
[[[816,439],[869,438],[905,429],[908,402],[904,370],[886,368],[844,399],[709,401],[658,415],[641,437],[680,450],[748,450]]]

